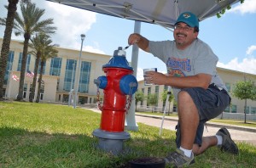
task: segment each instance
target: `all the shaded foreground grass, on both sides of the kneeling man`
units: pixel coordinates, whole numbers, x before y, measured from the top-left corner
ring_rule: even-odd
[[[0,167],[126,168],[130,160],[163,158],[175,150],[173,132],[167,132],[163,138],[144,131],[130,132],[131,139],[125,142],[124,152],[114,156],[96,149],[97,138],[90,135],[49,134],[3,127],[0,128]],[[193,167],[256,167],[256,147],[247,143],[238,143],[238,147],[239,155],[210,148],[195,157]]]

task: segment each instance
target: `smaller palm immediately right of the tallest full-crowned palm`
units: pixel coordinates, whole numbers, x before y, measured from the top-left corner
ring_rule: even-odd
[[[34,77],[33,77],[33,82],[32,82],[32,88],[31,88],[31,93],[29,94],[29,101],[32,102],[35,96],[35,88],[36,88],[36,84],[37,84],[37,77],[38,77],[38,65],[40,62],[40,58],[42,56],[42,54],[44,54],[44,50],[46,47],[48,47],[50,45],[50,43],[52,42],[49,39],[49,36],[46,34],[36,34],[36,36],[33,36],[31,39],[32,43],[28,44],[29,48],[32,48],[31,52],[28,53],[32,53],[32,55],[34,55],[36,57],[36,62],[35,62],[35,67],[34,67]]]

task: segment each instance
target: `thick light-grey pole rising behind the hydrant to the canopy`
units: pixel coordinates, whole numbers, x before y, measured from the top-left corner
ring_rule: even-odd
[[[140,33],[141,32],[141,22],[135,21],[134,23],[134,32]],[[131,67],[133,68],[133,76],[137,77],[137,60],[138,60],[138,52],[139,48],[137,45],[132,46],[132,53],[131,53]],[[125,130],[137,131],[138,126],[135,120],[135,95],[132,95],[131,98],[131,106],[128,111],[128,114],[125,118]]]

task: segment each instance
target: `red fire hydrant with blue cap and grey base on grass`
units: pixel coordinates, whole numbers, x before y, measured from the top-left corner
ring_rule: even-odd
[[[99,138],[98,148],[112,154],[123,150],[124,141],[131,136],[125,132],[125,115],[131,104],[131,96],[137,91],[137,79],[125,58],[125,51],[119,47],[113,58],[102,66],[106,76],[99,76],[94,82],[98,88],[98,108],[102,110],[101,126],[92,132]],[[99,88],[103,89],[103,105],[99,100]]]

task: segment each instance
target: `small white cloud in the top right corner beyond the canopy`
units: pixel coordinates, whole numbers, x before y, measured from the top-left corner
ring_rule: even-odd
[[[244,3],[237,5],[235,8],[231,8],[229,12],[247,14],[256,13],[256,1],[255,0],[245,0]]]

